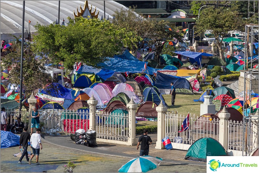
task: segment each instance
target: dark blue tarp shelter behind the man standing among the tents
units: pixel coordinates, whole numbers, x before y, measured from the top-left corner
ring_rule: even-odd
[[[176,78],[167,74],[157,72],[155,87],[159,89],[171,89],[171,82],[175,88],[189,89],[192,91],[190,82],[185,78]]]

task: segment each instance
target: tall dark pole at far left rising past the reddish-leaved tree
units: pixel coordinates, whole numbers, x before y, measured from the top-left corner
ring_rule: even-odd
[[[25,13],[25,1],[23,1],[22,7],[22,29],[21,29],[21,72],[20,72],[20,97],[19,97],[19,117],[21,118],[21,100],[22,100],[22,73],[23,73],[23,41],[24,41],[24,13]]]

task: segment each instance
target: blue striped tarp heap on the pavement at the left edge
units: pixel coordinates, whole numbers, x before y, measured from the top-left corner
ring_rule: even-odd
[[[13,134],[11,131],[1,130],[1,148],[9,148],[20,145],[20,136]]]

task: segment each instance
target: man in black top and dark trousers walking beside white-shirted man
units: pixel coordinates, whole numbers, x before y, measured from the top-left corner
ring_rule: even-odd
[[[24,156],[27,162],[29,162],[27,149],[28,149],[28,141],[30,141],[31,135],[30,133],[27,132],[27,130],[28,130],[28,127],[27,126],[24,127],[23,132],[21,132],[21,136],[20,136],[20,149],[23,147],[23,153],[19,159],[19,162],[18,162],[19,164],[22,164],[21,160],[24,158]]]

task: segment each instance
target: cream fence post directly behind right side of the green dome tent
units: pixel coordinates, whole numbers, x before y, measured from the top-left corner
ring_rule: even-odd
[[[228,150],[228,119],[230,113],[228,113],[226,108],[218,114],[219,117],[219,143]]]

